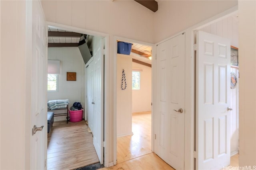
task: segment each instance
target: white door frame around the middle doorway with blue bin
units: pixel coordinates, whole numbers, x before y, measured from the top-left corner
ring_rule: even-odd
[[[152,72],[152,88],[151,88],[151,94],[152,94],[152,97],[151,97],[151,101],[153,103],[152,105],[152,114],[151,114],[151,150],[154,151],[154,148],[153,148],[153,134],[154,134],[154,113],[155,113],[155,107],[154,107],[154,103],[155,103],[155,100],[154,100],[154,96],[155,96],[155,82],[154,82],[154,79],[155,79],[155,64],[156,64],[156,60],[155,60],[155,56],[156,56],[156,52],[155,52],[155,49],[156,49],[156,46],[152,43],[146,43],[146,42],[143,42],[143,41],[138,41],[138,40],[134,40],[134,39],[128,39],[128,38],[124,38],[124,37],[119,37],[119,36],[114,36],[114,53],[113,53],[113,56],[114,56],[114,66],[113,66],[113,71],[114,71],[114,122],[113,122],[113,126],[114,126],[114,133],[113,133],[113,156],[114,156],[114,162],[113,162],[113,165],[116,165],[116,159],[117,159],[117,131],[116,131],[116,128],[117,128],[117,105],[116,105],[116,101],[117,101],[117,91],[116,91],[116,87],[117,87],[117,41],[124,41],[124,42],[133,42],[133,43],[138,43],[138,44],[143,44],[143,45],[148,45],[148,46],[151,46],[152,47],[152,60],[151,60],[151,72]]]

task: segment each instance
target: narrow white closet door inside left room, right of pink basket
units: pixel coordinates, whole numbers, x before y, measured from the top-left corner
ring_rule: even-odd
[[[88,125],[93,133],[93,61],[88,65],[87,69],[87,106],[88,106]]]

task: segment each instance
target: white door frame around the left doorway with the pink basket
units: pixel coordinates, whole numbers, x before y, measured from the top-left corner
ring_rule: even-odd
[[[72,31],[72,32],[79,32],[79,33],[84,33],[84,34],[89,34],[89,35],[93,35],[93,36],[101,36],[104,37],[104,43],[105,43],[105,61],[104,61],[104,101],[103,101],[103,108],[104,108],[104,141],[103,141],[103,147],[104,147],[104,158],[103,158],[103,162],[104,162],[104,166],[108,167],[109,166],[109,155],[111,152],[109,152],[109,148],[106,146],[109,146],[109,141],[110,140],[110,136],[108,135],[108,129],[109,129],[109,117],[107,115],[109,115],[109,113],[111,113],[110,110],[110,104],[111,104],[111,100],[110,100],[110,95],[109,93],[109,80],[108,77],[109,75],[109,35],[106,33],[101,33],[101,32],[97,32],[97,31],[91,31],[88,29],[82,29],[82,28],[78,28],[78,27],[72,27],[69,25],[63,25],[63,24],[59,24],[59,23],[54,23],[54,22],[46,22],[48,26],[56,28],[56,29],[63,29],[63,30],[67,30],[67,31]],[[48,54],[47,54],[48,55]],[[47,56],[48,57],[48,56]],[[85,64],[86,66],[86,64]],[[86,76],[86,75],[85,75]],[[85,101],[86,102],[86,101]]]

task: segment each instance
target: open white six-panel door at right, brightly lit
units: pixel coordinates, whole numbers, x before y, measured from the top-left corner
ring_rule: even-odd
[[[230,41],[197,32],[196,169],[230,164]]]

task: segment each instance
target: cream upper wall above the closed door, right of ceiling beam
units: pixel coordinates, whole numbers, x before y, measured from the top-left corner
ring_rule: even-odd
[[[166,39],[236,5],[237,0],[160,0],[154,17],[154,42]]]

